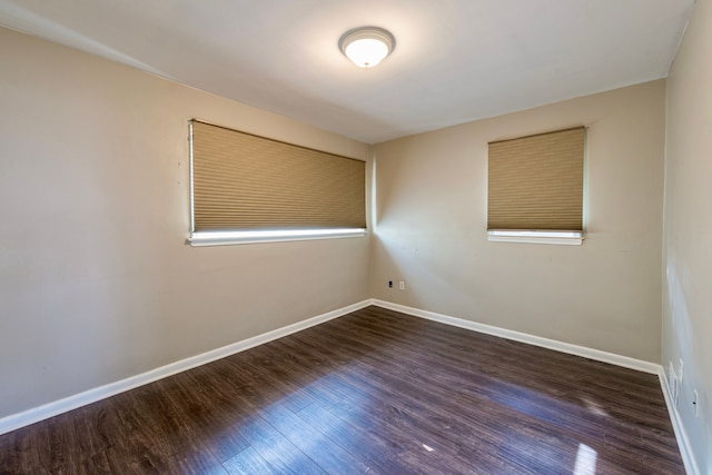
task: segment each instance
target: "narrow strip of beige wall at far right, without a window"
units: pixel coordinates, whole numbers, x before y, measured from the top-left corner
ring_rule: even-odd
[[[678,410],[701,474],[712,474],[711,205],[712,2],[698,0],[668,87],[663,364],[684,362]]]

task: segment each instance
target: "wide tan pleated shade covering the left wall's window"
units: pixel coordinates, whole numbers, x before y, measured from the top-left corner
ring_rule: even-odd
[[[194,231],[366,228],[366,164],[191,121]]]

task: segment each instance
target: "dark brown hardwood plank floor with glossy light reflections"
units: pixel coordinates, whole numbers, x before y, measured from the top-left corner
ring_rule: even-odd
[[[656,376],[368,307],[0,436],[1,474],[683,474]]]

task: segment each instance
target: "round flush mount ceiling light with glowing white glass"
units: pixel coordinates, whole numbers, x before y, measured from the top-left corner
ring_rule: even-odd
[[[373,68],[383,61],[396,46],[388,30],[378,27],[359,27],[345,32],[338,40],[344,56],[359,68]]]

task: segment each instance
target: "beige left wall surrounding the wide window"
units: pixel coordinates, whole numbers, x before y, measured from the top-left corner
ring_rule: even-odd
[[[0,29],[0,417],[369,297],[367,238],[191,248],[188,119],[367,145]]]

